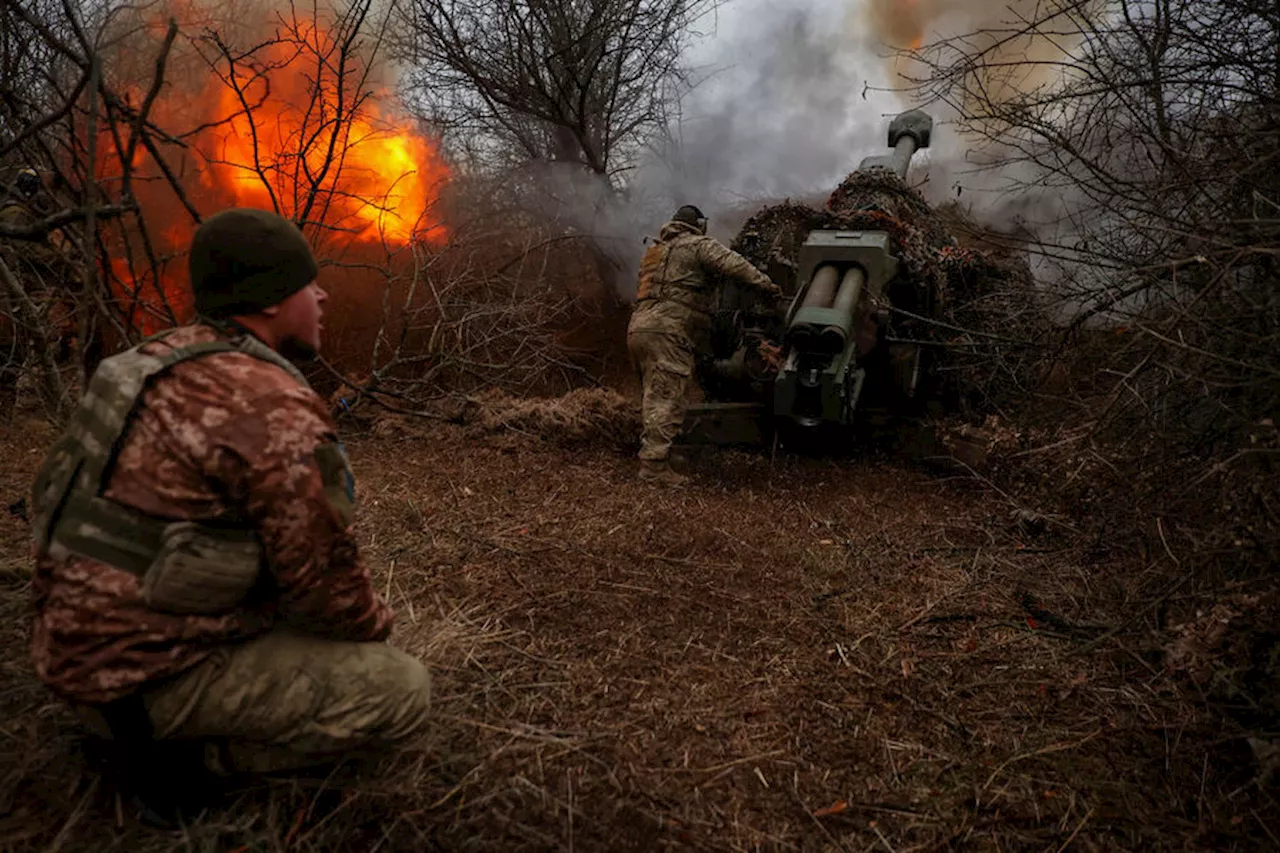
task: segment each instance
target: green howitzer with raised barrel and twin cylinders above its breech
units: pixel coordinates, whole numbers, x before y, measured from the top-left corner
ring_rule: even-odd
[[[905,298],[914,298],[914,292],[929,282],[908,278],[911,270],[900,257],[902,247],[895,245],[895,233],[876,214],[895,215],[899,206],[886,197],[909,190],[908,169],[915,154],[929,147],[932,132],[933,119],[927,113],[909,110],[895,117],[883,154],[865,158],[858,167],[861,174],[850,175],[832,193],[827,204],[833,215],[826,227],[810,228],[804,218],[794,223],[787,218],[791,224],[786,228],[792,231],[772,236],[774,248],[771,252],[781,248],[783,233],[788,234],[792,248],[794,241],[801,241],[799,251],[786,257],[791,277],[786,289],[794,293],[786,315],[778,318],[778,325],[758,330],[768,336],[771,345],[782,347],[781,364],[764,366],[765,360],[756,353],[762,368],[759,374],[753,374],[751,356],[742,348],[745,343],[736,345],[739,348],[732,359],[716,362],[717,375],[730,377],[739,383],[735,387],[750,380],[750,393],[769,394],[768,410],[760,411],[758,403],[707,403],[708,411],[692,430],[686,426],[686,435],[705,430],[741,441],[739,437],[744,433],[724,425],[732,421],[723,407],[746,406],[753,412],[751,434],[760,441],[769,432],[764,425],[768,418],[768,423],[791,430],[785,437],[788,444],[792,439],[800,444],[810,439],[823,442],[827,432],[810,430],[850,426],[864,407],[892,412],[904,396],[915,393],[922,364],[920,342],[891,337],[890,314],[882,309],[892,307],[900,292],[908,295]],[[753,237],[753,243],[755,237],[763,236],[744,231],[740,237],[746,234]],[[904,279],[897,278],[900,272],[905,273]],[[895,283],[901,286],[895,287]],[[893,346],[886,352],[883,347],[891,343]],[[904,368],[910,374],[909,384],[900,375]],[[861,400],[864,383],[870,389],[865,406]],[[897,391],[901,387],[906,388],[905,394]],[[849,441],[855,439],[850,433],[842,434]]]

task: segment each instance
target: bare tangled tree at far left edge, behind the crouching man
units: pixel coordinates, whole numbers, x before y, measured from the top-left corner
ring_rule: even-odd
[[[169,22],[156,45],[151,79],[125,91],[104,73],[119,12],[109,3],[0,1],[0,183],[10,204],[15,173],[33,170],[41,183],[24,215],[0,223],[0,301],[8,306],[0,327],[10,338],[0,384],[13,384],[10,377],[32,361],[58,415],[68,410],[69,392],[51,355],[56,338],[83,379],[105,336],[128,337],[111,310],[119,295],[102,277],[100,231],[140,215],[133,154],[161,134],[148,113],[175,26]]]

